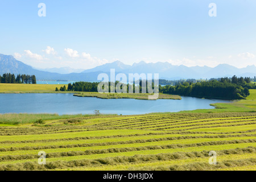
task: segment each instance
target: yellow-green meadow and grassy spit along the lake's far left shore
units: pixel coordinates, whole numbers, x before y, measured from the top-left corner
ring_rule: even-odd
[[[139,100],[148,100],[148,93],[98,93],[98,92],[55,92],[56,87],[60,89],[64,85],[48,84],[0,84],[0,93],[74,93],[77,97],[97,97],[104,99],[113,98],[133,98]],[[68,88],[68,85],[65,85]],[[159,94],[158,99],[180,100],[180,96],[171,94]]]

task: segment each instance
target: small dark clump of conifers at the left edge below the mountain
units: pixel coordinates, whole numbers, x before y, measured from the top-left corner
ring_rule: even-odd
[[[0,75],[0,83],[3,84],[36,84],[35,75],[17,75],[5,73]]]

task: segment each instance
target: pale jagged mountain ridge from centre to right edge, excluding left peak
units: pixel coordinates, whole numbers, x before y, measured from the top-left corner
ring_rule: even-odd
[[[141,61],[134,63],[133,65],[125,65],[120,61],[113,63],[107,63],[96,68],[85,70],[83,73],[95,72],[95,71],[110,71],[115,68],[115,72],[122,72],[126,75],[128,73],[159,73],[160,78],[166,78],[168,80],[182,79],[182,78],[219,78],[219,77],[232,77],[237,76],[249,76],[254,77],[256,75],[255,65],[247,66],[246,68],[236,68],[228,64],[219,64],[217,67],[186,67],[184,65],[172,65],[168,62],[158,63],[145,63]]]

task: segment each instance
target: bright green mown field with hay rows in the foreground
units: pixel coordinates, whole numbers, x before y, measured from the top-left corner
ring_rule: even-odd
[[[256,113],[40,116],[0,124],[0,170],[256,169]]]

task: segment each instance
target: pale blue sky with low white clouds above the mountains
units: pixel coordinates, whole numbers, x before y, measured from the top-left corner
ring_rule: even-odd
[[[115,60],[241,68],[256,65],[255,10],[255,0],[0,1],[0,53],[36,68]]]

